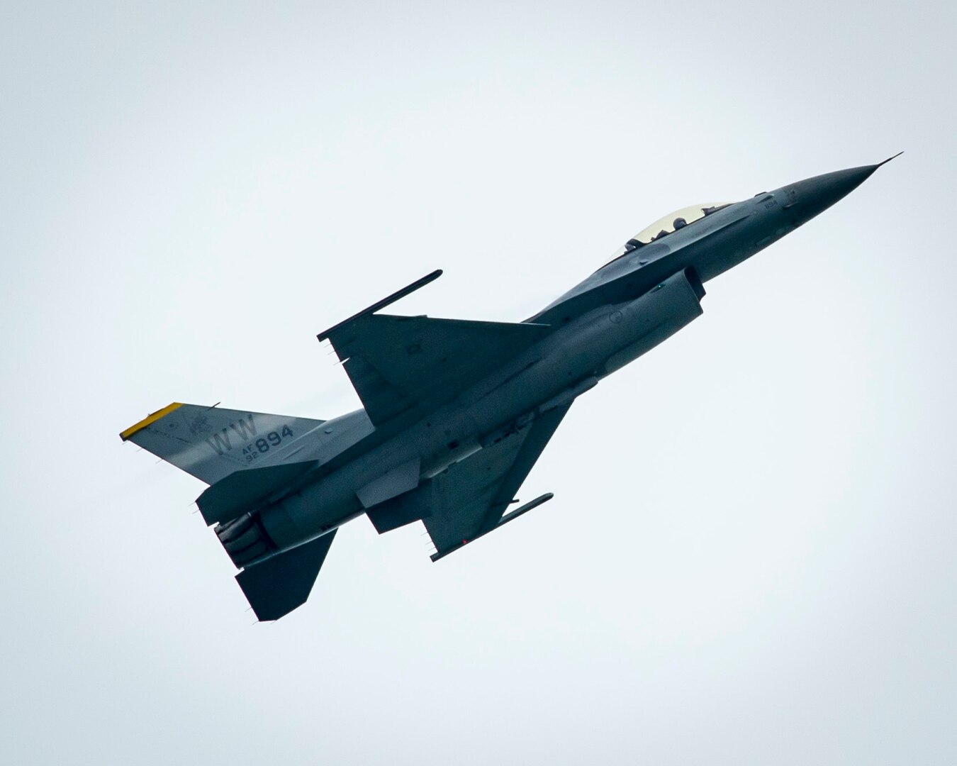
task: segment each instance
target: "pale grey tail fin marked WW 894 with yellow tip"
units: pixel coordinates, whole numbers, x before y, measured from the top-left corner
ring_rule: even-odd
[[[215,484],[267,457],[273,465],[284,462],[281,456],[288,454],[292,442],[323,422],[173,402],[127,428],[120,438]]]

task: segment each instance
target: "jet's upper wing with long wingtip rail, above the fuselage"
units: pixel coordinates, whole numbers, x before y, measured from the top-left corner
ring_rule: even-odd
[[[332,343],[375,425],[420,405],[435,407],[455,398],[550,331],[546,325],[374,313],[440,273],[413,282],[318,336]]]

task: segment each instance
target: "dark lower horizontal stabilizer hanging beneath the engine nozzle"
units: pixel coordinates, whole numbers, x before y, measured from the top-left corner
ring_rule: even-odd
[[[236,574],[259,620],[278,620],[305,603],[335,536],[333,529]]]

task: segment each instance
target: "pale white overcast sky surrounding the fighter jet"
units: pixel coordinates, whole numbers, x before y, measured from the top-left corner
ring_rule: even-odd
[[[17,764],[952,763],[950,3],[7,4]],[[170,401],[334,417],[315,333],[518,321],[669,210],[905,149],[572,408],[556,498],[339,533],[254,625]]]

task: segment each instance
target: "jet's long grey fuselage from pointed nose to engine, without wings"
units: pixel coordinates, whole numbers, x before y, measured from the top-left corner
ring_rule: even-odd
[[[757,194],[612,261],[527,320],[553,327],[542,341],[399,429],[374,428],[364,411],[326,421],[326,434],[342,428],[345,439],[300,453],[298,460],[320,464],[296,491],[258,511],[272,550],[236,563],[254,564],[363,514],[368,507],[360,500],[362,488],[389,472],[412,466],[410,482],[428,481],[549,408],[570,403],[700,316],[702,282],[834,204],[874,168],[828,173]],[[330,461],[333,445],[337,460]],[[391,491],[407,491],[406,486],[396,477],[393,487],[387,482],[370,499],[388,501]]]

